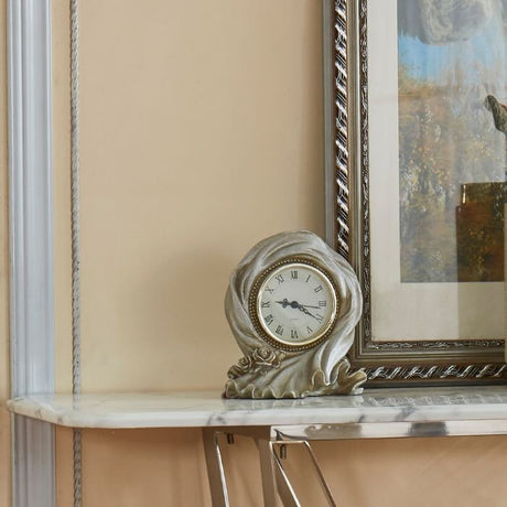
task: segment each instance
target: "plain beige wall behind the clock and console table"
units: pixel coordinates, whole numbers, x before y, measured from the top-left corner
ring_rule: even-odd
[[[320,1],[80,4],[83,387],[219,389],[239,356],[222,308],[230,270],[269,234],[323,233]],[[66,391],[67,1],[53,0],[53,24],[56,382]],[[1,73],[4,83],[4,65]],[[0,222],[7,230],[4,118]],[[0,241],[3,400],[6,234]],[[0,507],[9,505],[8,422],[0,410]],[[316,452],[344,506],[499,507],[507,497],[506,447],[506,438],[456,438],[326,443]],[[83,456],[86,507],[209,505],[196,430],[85,431]],[[315,485],[303,462],[298,453],[289,457],[310,497]],[[260,505],[252,444],[239,439],[227,447],[226,465],[233,505]],[[57,431],[57,495],[58,506],[72,505],[65,429]]]

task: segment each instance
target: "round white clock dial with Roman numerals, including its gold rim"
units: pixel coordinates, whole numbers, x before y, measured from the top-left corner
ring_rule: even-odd
[[[302,350],[327,336],[337,306],[335,288],[321,268],[309,261],[285,260],[260,277],[250,311],[257,331],[268,343]]]

